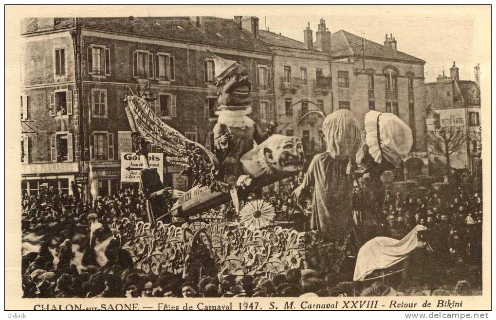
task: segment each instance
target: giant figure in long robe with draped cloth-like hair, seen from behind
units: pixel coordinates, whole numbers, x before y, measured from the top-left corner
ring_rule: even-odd
[[[360,123],[350,110],[327,115],[322,123],[327,151],[315,155],[303,183],[292,193],[298,202],[313,187],[310,228],[328,241],[341,240],[349,232],[352,213],[351,167],[362,141]]]

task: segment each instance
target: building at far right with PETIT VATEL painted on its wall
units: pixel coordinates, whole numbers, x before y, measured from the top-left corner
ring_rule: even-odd
[[[443,72],[436,82],[425,84],[430,171],[432,175],[445,174],[449,161],[452,168],[477,173],[481,152],[480,88],[474,81],[459,79],[454,61],[449,70],[449,77]],[[477,79],[478,66],[475,75]]]

